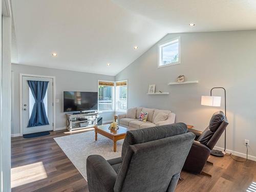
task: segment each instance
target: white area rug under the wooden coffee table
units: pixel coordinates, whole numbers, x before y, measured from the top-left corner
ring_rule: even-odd
[[[113,141],[100,134],[95,141],[94,131],[56,137],[54,140],[86,180],[86,159],[89,155],[101,155],[106,160],[121,157],[123,140],[117,141],[117,152],[114,152]]]

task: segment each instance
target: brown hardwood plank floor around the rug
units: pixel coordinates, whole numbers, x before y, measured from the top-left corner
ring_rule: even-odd
[[[81,132],[72,134],[77,133]],[[12,138],[12,191],[89,191],[87,181],[53,139],[65,135],[70,133],[59,131],[39,138]],[[182,172],[182,181],[179,181],[176,192],[240,192],[246,191],[252,182],[256,182],[254,161],[240,163],[228,156],[210,156],[209,161],[214,165],[207,164],[204,171],[211,174],[212,178]],[[256,189],[251,190],[254,191]]]

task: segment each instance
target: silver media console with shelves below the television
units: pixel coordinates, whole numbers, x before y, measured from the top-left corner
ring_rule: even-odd
[[[66,114],[67,130],[74,131],[80,129],[86,129],[97,125],[98,113],[78,113],[78,114]]]

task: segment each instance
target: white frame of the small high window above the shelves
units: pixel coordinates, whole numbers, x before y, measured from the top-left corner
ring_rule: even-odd
[[[177,40],[179,42],[178,61],[177,62],[173,62],[173,63],[169,63],[167,65],[160,65],[162,63],[162,48],[174,44]],[[175,65],[179,65],[180,63],[181,63],[181,42],[180,42],[180,36],[179,37],[175,37],[173,39],[170,39],[168,41],[162,42],[161,44],[158,44],[158,68],[168,67],[168,66],[175,66]]]

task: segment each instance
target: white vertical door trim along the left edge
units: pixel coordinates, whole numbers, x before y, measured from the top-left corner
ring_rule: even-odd
[[[0,191],[8,192],[11,191],[11,11],[8,0],[0,4]]]

